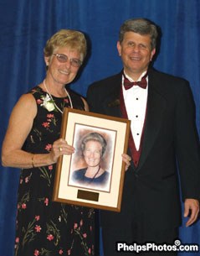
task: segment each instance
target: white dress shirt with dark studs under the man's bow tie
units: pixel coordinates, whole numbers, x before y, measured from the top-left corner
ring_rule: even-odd
[[[138,81],[141,81],[141,77],[146,74],[146,71],[141,74]],[[126,73],[125,73],[126,75]],[[130,76],[126,75],[129,81],[133,81]],[[122,92],[124,96],[126,112],[128,119],[131,120],[131,133],[136,145],[136,150],[140,149],[141,133],[146,117],[146,102],[148,95],[148,76],[146,77],[147,86],[143,89],[139,86],[132,86],[126,90],[124,87],[124,76],[122,76]]]

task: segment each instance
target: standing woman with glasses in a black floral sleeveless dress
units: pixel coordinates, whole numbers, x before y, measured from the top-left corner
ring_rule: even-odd
[[[13,108],[3,141],[4,166],[21,168],[15,255],[94,255],[94,211],[51,201],[55,163],[74,148],[59,138],[64,107],[88,110],[65,85],[74,80],[86,55],[79,31],[62,29],[44,48],[43,82]]]

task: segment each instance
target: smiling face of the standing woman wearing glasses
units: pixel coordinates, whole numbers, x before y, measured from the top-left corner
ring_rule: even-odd
[[[68,60],[62,63],[58,60],[56,54],[66,55]],[[81,60],[79,51],[69,49],[68,47],[56,48],[53,55],[44,58],[46,65],[49,65],[47,76],[49,76],[50,79],[53,79],[54,82],[69,84],[74,80],[79,71],[79,67],[72,65],[69,61],[70,59]]]

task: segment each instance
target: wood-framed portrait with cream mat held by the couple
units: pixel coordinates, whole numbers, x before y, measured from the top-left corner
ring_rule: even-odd
[[[65,108],[61,138],[75,152],[59,157],[53,201],[121,211],[131,121]]]

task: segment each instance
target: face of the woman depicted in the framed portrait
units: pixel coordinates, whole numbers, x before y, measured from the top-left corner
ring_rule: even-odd
[[[90,167],[100,165],[102,146],[98,141],[90,140],[85,144],[85,162]]]

